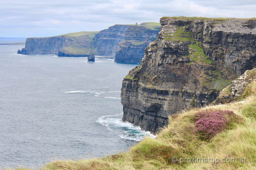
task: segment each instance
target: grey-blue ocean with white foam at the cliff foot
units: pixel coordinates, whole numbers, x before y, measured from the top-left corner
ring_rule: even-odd
[[[18,55],[0,45],[0,169],[127,151],[152,136],[122,122],[122,80],[135,64]]]

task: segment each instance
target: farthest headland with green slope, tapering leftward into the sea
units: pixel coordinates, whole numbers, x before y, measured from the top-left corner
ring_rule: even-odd
[[[59,51],[72,56],[88,55],[92,39],[98,32],[68,33],[54,37],[27,38],[18,54],[55,54]]]

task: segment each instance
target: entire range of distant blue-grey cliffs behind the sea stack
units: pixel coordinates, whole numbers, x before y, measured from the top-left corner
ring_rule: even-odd
[[[115,62],[140,63],[144,49],[156,40],[160,24],[114,25],[100,32],[68,33],[54,37],[28,38],[18,54],[53,54],[62,57],[95,55],[115,57]]]

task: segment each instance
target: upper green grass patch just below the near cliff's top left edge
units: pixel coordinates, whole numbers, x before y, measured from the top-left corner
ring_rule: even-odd
[[[173,33],[163,33],[164,41],[193,41],[193,33],[185,31],[185,28],[176,28]]]

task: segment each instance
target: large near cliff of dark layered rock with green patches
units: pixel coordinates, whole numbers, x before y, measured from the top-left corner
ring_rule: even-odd
[[[232,79],[255,67],[256,29],[250,22],[161,18],[157,40],[123,80],[122,120],[154,133],[169,115],[214,101]]]

